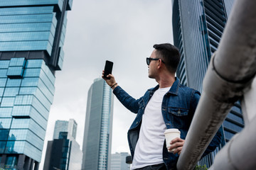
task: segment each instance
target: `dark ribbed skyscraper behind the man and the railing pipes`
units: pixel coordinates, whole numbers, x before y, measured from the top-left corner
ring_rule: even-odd
[[[174,45],[181,52],[177,77],[181,83],[203,91],[203,77],[210,57],[217,50],[235,0],[173,0]],[[223,123],[223,143],[244,127],[240,103],[235,103]],[[218,149],[216,150],[218,152]],[[201,164],[210,166],[216,152]]]

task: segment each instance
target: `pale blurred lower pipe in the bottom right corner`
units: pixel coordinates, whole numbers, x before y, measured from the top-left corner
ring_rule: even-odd
[[[256,166],[256,77],[250,91],[242,99],[242,114],[247,117],[245,128],[235,135],[215,157],[209,170],[255,169]],[[254,103],[253,103],[254,102]]]

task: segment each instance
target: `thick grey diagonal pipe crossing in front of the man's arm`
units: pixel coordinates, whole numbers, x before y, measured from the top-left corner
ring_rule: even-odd
[[[256,74],[256,1],[235,1],[203,94],[178,159],[178,169],[193,169],[233,106]]]

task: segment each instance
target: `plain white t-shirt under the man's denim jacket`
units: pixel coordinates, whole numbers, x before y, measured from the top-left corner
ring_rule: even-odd
[[[164,94],[171,87],[157,89],[146,105],[142,115],[139,140],[135,147],[132,169],[163,163],[164,130],[166,125],[161,113]]]

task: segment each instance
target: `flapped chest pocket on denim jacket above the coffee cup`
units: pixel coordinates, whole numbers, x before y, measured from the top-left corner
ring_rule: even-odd
[[[168,108],[167,119],[171,122],[171,126],[174,128],[186,128],[188,123],[188,109],[186,108]]]

